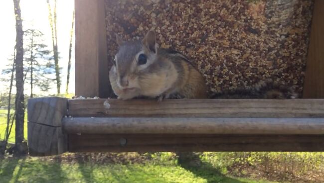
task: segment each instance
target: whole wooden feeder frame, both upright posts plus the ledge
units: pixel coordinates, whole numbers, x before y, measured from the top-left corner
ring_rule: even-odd
[[[29,154],[324,151],[322,9],[324,0],[315,0],[304,99],[31,98]],[[104,22],[104,0],[75,0],[76,95],[113,94]]]

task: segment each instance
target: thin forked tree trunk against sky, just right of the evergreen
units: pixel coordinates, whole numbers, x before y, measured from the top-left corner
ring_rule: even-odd
[[[47,7],[48,7],[48,20],[49,25],[52,32],[52,43],[53,43],[53,53],[54,53],[54,63],[55,63],[55,75],[56,75],[56,88],[57,88],[57,94],[60,94],[60,88],[61,88],[61,79],[60,79],[60,67],[58,65],[58,49],[57,49],[57,31],[56,31],[56,0],[54,0],[54,18],[52,15],[52,8],[49,3],[49,0],[47,1]]]

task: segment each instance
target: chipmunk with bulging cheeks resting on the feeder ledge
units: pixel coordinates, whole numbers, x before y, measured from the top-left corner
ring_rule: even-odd
[[[154,31],[143,40],[123,41],[117,34],[116,39],[109,80],[118,98],[207,98],[199,71],[179,52],[159,48]]]

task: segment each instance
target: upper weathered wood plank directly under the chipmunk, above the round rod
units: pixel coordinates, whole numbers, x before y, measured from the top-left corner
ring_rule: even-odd
[[[106,105],[104,103],[106,102]],[[72,99],[73,117],[324,117],[324,99]]]

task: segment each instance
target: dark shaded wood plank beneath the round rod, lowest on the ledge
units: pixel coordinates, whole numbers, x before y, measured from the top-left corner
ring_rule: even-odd
[[[324,135],[69,134],[69,152],[324,151]]]

